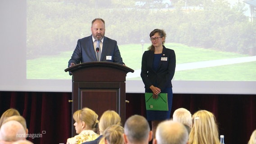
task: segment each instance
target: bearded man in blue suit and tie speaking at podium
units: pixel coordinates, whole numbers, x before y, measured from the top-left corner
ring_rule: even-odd
[[[95,18],[91,22],[91,33],[91,36],[78,40],[68,67],[94,61],[124,65],[117,41],[105,36],[105,21],[102,18]]]

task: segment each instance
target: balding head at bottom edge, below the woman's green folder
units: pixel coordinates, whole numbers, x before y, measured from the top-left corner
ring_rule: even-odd
[[[188,144],[187,129],[180,122],[163,121],[156,128],[153,144]]]

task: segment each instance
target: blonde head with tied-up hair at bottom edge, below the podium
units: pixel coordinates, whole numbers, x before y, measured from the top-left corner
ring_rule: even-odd
[[[120,125],[109,126],[103,133],[99,144],[125,144],[123,140],[124,129]]]

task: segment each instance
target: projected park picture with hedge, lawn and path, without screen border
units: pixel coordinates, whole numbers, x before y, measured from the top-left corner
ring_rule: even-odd
[[[145,6],[138,6],[138,1]],[[149,33],[164,29],[174,49],[174,81],[256,81],[256,27],[250,7],[227,0],[27,0],[27,79],[71,79],[77,40],[91,35],[91,21],[105,20],[105,36],[117,40],[123,62],[141,80]]]

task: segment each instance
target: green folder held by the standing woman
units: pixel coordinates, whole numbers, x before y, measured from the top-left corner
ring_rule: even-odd
[[[157,99],[153,99],[153,93],[145,93],[146,110],[168,111],[167,93],[158,94]]]

